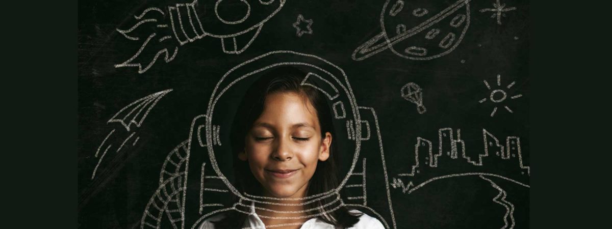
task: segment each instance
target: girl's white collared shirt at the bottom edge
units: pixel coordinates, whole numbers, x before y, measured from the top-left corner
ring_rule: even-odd
[[[252,208],[251,214],[247,217],[247,221],[244,222],[243,228],[252,228],[252,229],[266,228],[266,225],[264,225],[264,222],[261,221],[261,219],[259,219],[259,216],[257,216],[257,214],[255,213],[255,208],[253,205],[251,206],[251,208]],[[351,209],[349,210],[349,212],[353,214],[362,213],[361,211],[357,209]],[[220,214],[218,216],[214,216],[209,219],[206,219],[200,225],[200,227],[198,227],[198,229],[216,229],[215,225],[211,221],[218,221],[220,219],[223,219],[223,217],[225,217],[225,214]],[[322,220],[316,217],[307,220],[306,222],[304,222],[304,224],[302,224],[302,227],[300,227],[300,229],[328,229],[328,228],[335,228],[335,227],[334,225],[327,224],[326,222],[323,222]],[[367,214],[363,213],[359,217],[359,222],[353,225],[353,227],[346,228],[346,229],[384,229],[384,226],[378,219],[368,216]]]

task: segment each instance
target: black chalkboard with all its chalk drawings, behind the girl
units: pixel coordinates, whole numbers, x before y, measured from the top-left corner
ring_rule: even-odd
[[[329,96],[342,205],[386,228],[529,228],[528,1],[78,7],[79,228],[236,210],[212,201],[247,198],[224,172],[228,122],[278,65]]]

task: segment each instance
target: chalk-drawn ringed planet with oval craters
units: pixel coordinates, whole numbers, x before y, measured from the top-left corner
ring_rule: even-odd
[[[380,16],[382,32],[357,47],[351,57],[364,60],[385,49],[410,60],[431,60],[449,54],[468,31],[470,1],[458,0],[436,6],[439,9],[423,9],[419,1],[387,0]],[[439,36],[442,37],[439,41],[433,40],[442,29],[446,29],[446,34]]]

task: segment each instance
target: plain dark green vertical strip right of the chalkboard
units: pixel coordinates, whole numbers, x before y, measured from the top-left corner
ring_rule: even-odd
[[[531,228],[599,228],[610,219],[608,9],[530,4]]]

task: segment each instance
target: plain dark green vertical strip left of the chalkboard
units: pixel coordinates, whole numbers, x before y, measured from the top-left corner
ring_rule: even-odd
[[[76,3],[2,5],[3,228],[77,227]]]

